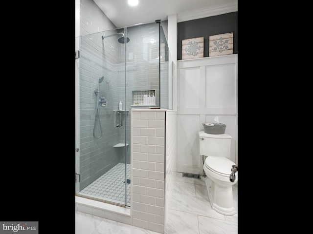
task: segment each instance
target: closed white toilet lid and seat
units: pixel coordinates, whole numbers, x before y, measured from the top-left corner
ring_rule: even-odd
[[[226,157],[207,156],[204,165],[219,175],[229,176],[232,166],[236,164]]]

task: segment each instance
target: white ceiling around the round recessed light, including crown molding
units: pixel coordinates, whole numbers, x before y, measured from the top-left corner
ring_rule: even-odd
[[[238,0],[139,0],[137,6],[128,0],[93,0],[117,27],[167,20],[177,15],[177,21],[195,20],[238,10]]]

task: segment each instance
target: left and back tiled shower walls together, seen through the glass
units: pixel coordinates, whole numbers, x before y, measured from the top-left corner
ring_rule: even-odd
[[[158,41],[159,25],[156,23],[140,25],[127,29],[130,42],[125,44],[117,41],[118,36],[102,39],[101,36],[111,35],[123,30],[110,30],[81,37],[80,40],[80,189],[110,170],[118,162],[125,162],[124,148],[113,148],[113,145],[125,140],[130,143],[130,110],[133,104],[134,90],[156,90],[156,105],[159,104],[159,74],[162,87],[166,88],[168,62],[162,62],[159,69]],[[127,69],[125,73],[125,69]],[[96,95],[99,78],[100,96],[107,98],[107,107],[99,107],[102,137],[93,137],[93,126],[96,115]],[[126,76],[126,81],[125,81]],[[126,100],[125,100],[126,86]],[[165,96],[165,93],[163,93]],[[166,97],[165,97],[166,98]],[[164,98],[163,98],[164,99]],[[167,99],[167,98],[166,98]],[[118,102],[123,102],[127,110],[123,117],[123,126],[114,128],[114,112]],[[126,118],[125,118],[126,117]],[[126,128],[126,135],[125,135]],[[97,136],[100,134],[97,124]],[[130,163],[130,147],[126,148]]]

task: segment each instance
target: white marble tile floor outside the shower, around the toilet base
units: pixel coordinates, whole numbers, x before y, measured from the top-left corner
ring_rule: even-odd
[[[222,215],[211,207],[203,178],[176,173],[171,188],[165,234],[238,234],[238,211]],[[234,207],[238,208],[238,183],[233,186]],[[124,223],[76,211],[75,234],[158,234]]]

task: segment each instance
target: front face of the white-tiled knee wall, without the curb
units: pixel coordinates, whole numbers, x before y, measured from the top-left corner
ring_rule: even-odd
[[[133,226],[164,233],[165,110],[132,110]]]

